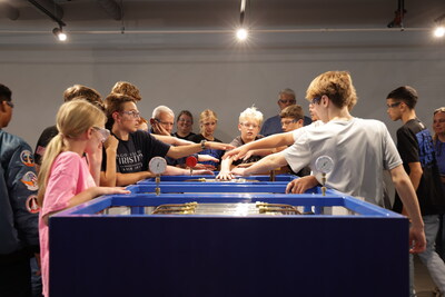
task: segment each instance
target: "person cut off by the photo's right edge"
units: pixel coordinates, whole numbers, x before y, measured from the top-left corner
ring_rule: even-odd
[[[433,116],[434,150],[441,172],[442,189],[445,194],[445,107],[434,110]],[[445,215],[441,215],[441,229],[437,235],[436,244],[438,255],[445,260]]]

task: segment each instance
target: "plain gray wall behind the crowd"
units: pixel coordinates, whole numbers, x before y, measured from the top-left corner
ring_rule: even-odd
[[[266,118],[278,112],[283,88],[296,90],[297,102],[307,110],[306,88],[327,70],[349,70],[359,96],[353,115],[385,121],[393,136],[400,123],[387,119],[386,95],[413,86],[421,97],[417,115],[431,127],[432,111],[445,106],[444,43],[352,44],[337,40],[332,46],[244,50],[7,47],[0,49],[0,82],[12,89],[17,107],[6,130],[34,147],[40,132],[53,125],[67,87],[86,85],[106,97],[116,81],[127,80],[140,88],[139,109],[146,118],[158,105],[175,112],[189,109],[196,119],[210,108],[219,117],[216,137],[230,141],[245,108],[255,103]]]

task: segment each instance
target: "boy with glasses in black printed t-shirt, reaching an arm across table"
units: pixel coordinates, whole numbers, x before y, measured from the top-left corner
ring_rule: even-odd
[[[162,138],[177,139],[169,136],[155,136],[147,131],[138,130],[139,111],[131,97],[110,93],[106,98],[107,128],[118,139],[118,148],[115,158],[116,176],[105,176],[103,172],[109,170],[108,166],[111,161],[103,151],[102,160],[102,185],[127,186],[135,184],[141,179],[154,177],[148,170],[148,164],[154,157],[170,157],[179,159],[192,154],[207,150],[225,150],[233,146],[219,143],[215,141],[202,140],[199,143],[170,146]],[[161,137],[158,139],[158,137]],[[179,139],[181,140],[181,139]],[[185,141],[185,140],[181,140]],[[177,145],[177,143],[172,143]],[[209,170],[195,170],[196,175],[212,175]],[[167,166],[165,175],[189,175],[189,170]]]

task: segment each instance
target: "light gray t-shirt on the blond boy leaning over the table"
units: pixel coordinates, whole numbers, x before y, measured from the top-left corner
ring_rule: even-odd
[[[315,161],[320,156],[334,160],[326,186],[383,206],[383,170],[402,164],[386,126],[378,120],[353,118],[295,130],[295,143],[281,151],[294,171],[309,166],[318,181]]]

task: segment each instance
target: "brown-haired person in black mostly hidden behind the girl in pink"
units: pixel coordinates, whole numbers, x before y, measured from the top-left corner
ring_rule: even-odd
[[[63,92],[63,101],[68,102],[75,98],[82,97],[83,99],[88,100],[92,105],[96,105],[100,109],[105,110],[102,98],[100,93],[89,87],[82,85],[73,85],[65,90]],[[37,140],[36,152],[34,152],[34,161],[36,161],[36,169],[39,171],[39,167],[41,164],[41,159],[43,157],[44,150],[51,141],[51,139],[57,136],[59,131],[57,130],[56,125],[50,126],[43,130],[40,135],[39,139]]]

